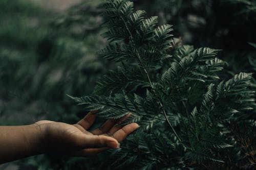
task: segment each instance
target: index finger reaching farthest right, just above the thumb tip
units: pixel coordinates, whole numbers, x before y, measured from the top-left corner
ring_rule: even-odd
[[[139,128],[139,125],[136,123],[132,123],[129,125],[126,125],[119,129],[117,132],[113,134],[113,137],[118,141],[121,142],[127,135],[135,131]]]

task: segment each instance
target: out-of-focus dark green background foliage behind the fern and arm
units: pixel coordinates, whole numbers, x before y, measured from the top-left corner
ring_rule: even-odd
[[[0,1],[0,125],[40,119],[75,123],[85,111],[66,94],[91,94],[97,79],[114,67],[96,55],[106,43],[100,36],[102,1],[84,0],[57,10],[65,2],[49,8],[39,0]],[[229,66],[222,77],[255,72],[255,0],[134,2],[148,16],[158,15],[160,25],[174,25],[177,41],[223,50],[219,58]],[[19,169],[97,169],[96,158],[86,159],[39,155],[14,163]]]

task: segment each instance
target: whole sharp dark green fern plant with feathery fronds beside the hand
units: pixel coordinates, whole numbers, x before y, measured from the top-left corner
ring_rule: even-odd
[[[218,73],[226,62],[219,50],[173,45],[171,25],[133,11],[126,0],[107,0],[103,8],[110,43],[99,55],[119,65],[96,85],[95,94],[72,97],[104,118],[132,115],[124,124],[140,129],[110,151],[102,168],[193,169],[229,166],[227,153],[239,148],[229,132],[231,121],[246,119],[255,107],[251,74],[227,81]],[[172,49],[172,50],[170,50]],[[239,158],[238,158],[239,159]],[[97,167],[100,168],[100,167]]]

